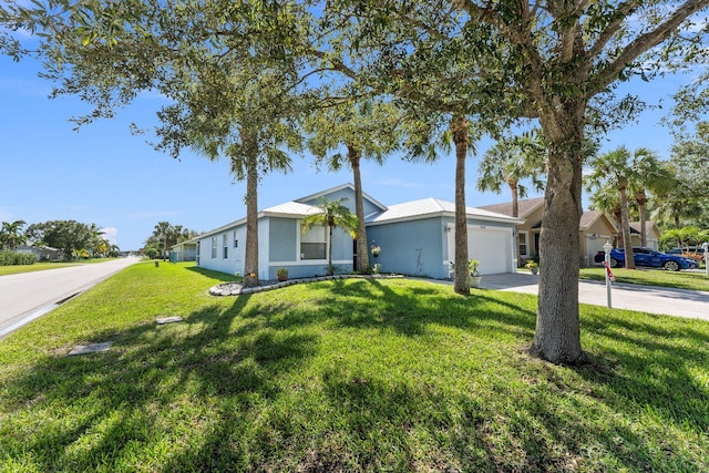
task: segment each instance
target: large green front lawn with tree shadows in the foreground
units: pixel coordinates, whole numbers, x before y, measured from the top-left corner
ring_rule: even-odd
[[[525,352],[534,296],[351,279],[209,297],[225,278],[134,265],[0,341],[0,470],[709,469],[707,322],[583,306],[593,362],[557,367]]]

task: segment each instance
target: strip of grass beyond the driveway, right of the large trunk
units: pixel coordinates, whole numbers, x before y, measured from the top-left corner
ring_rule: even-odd
[[[706,273],[615,268],[613,275],[616,282],[709,291],[709,276]],[[606,273],[604,268],[582,268],[579,278],[605,280]]]

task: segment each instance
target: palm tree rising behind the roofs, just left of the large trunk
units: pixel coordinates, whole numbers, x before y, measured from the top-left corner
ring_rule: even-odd
[[[544,163],[544,148],[530,140],[502,140],[483,155],[477,166],[477,189],[500,194],[506,184],[512,194],[512,216],[518,216],[518,198],[527,194],[520,181],[531,178],[535,191],[544,188],[537,176]],[[526,145],[525,145],[526,144]]]

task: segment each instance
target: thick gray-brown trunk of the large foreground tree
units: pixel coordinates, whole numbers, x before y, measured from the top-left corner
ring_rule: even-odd
[[[578,317],[578,225],[582,215],[583,103],[542,115],[548,177],[540,234],[540,299],[532,356],[553,363],[584,359]]]

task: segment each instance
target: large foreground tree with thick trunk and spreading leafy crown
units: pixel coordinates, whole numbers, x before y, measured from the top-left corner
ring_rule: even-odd
[[[633,110],[624,107],[628,102],[608,106],[618,81],[635,74],[648,78],[701,44],[703,31],[688,19],[709,0],[341,3],[350,7],[342,18],[360,19],[358,32],[384,45],[382,63],[390,75],[400,78],[400,65],[412,60],[422,69],[422,58],[431,56],[429,81],[434,82],[438,56],[453,54],[462,64],[456,72],[474,80],[439,81],[442,94],[449,96],[450,88],[456,88],[483,121],[524,117],[538,123],[547,143],[548,175],[531,352],[556,363],[582,361],[577,233],[584,132],[590,124],[610,126],[624,113],[631,115]],[[405,95],[407,84],[394,93]],[[598,106],[602,100],[604,107]]]

